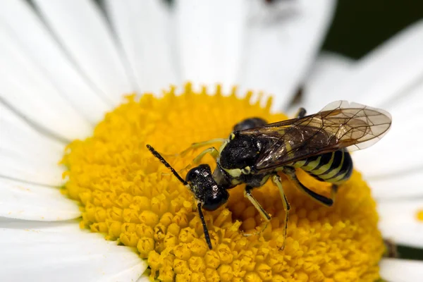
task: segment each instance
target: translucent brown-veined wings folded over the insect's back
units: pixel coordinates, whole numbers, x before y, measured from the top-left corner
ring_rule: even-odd
[[[304,118],[240,131],[266,143],[256,168],[260,172],[337,149],[364,149],[379,141],[391,127],[391,115],[346,101],[333,102]]]

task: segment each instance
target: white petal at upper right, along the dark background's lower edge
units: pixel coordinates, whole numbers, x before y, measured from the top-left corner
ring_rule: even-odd
[[[340,87],[340,99],[384,106],[423,75],[423,21],[408,27],[357,64],[354,74]],[[334,94],[333,94],[334,95]]]

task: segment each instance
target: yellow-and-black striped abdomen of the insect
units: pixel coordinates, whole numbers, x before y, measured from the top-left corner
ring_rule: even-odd
[[[353,160],[345,149],[296,161],[293,166],[302,168],[317,180],[334,184],[343,183],[353,173]]]

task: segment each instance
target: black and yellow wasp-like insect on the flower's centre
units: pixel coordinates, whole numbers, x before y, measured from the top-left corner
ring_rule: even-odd
[[[188,171],[185,180],[150,145],[147,148],[192,191],[204,237],[212,249],[202,209],[213,211],[221,207],[228,200],[228,189],[245,184],[244,195],[266,221],[266,228],[271,216],[251,191],[271,178],[278,187],[285,210],[283,236],[286,238],[290,205],[278,173],[284,173],[299,190],[317,202],[331,207],[338,185],[348,180],[353,172],[348,151],[364,149],[379,141],[388,132],[391,121],[391,115],[384,110],[345,101],[333,102],[309,116],[305,116],[305,109],[301,108],[297,118],[276,123],[247,118],[234,126],[228,139],[221,139],[219,149],[209,147],[194,159],[198,164],[205,154],[212,155],[216,160],[214,172],[208,164],[200,164]],[[216,140],[194,143],[192,147],[212,142]],[[331,197],[305,187],[298,180],[295,168],[301,168],[317,180],[332,183]]]

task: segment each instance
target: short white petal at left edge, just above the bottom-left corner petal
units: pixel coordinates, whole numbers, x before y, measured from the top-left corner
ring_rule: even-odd
[[[78,203],[61,195],[59,188],[0,178],[0,216],[63,221],[75,219],[80,214]]]

